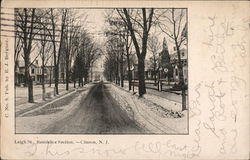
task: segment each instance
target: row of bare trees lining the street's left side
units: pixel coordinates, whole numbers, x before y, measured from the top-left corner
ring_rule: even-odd
[[[75,9],[15,9],[15,71],[24,61],[23,83],[28,87],[28,102],[34,102],[31,66],[38,65],[39,59],[43,100],[46,95],[45,70],[49,63],[54,96],[59,94],[60,77],[66,84],[66,90],[69,90],[69,83],[77,78],[79,86],[83,86],[83,78],[84,83],[89,81],[90,68],[102,51],[84,28],[84,17],[86,15]]]

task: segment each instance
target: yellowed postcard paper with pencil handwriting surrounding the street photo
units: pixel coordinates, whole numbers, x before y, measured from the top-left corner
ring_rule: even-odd
[[[249,2],[3,1],[1,7],[11,13],[5,19],[14,19],[14,8],[186,8],[188,17],[188,132],[177,134],[18,133],[14,32],[1,30],[2,159],[249,159]]]

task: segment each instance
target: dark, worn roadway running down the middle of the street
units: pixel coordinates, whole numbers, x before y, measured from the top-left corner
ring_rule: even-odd
[[[42,131],[42,133],[85,134],[141,132],[143,129],[120,108],[102,82],[90,89],[72,114]]]

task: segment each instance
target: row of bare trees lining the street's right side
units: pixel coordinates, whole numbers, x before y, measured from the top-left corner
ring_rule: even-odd
[[[148,66],[152,70],[151,75],[153,75],[154,85],[158,85],[158,90],[162,90],[163,79],[166,79],[170,85],[174,74],[178,76],[179,80],[174,81],[174,87],[181,91],[182,110],[186,110],[187,84],[183,75],[182,59],[185,53],[181,52],[187,45],[186,15],[185,9],[174,8],[123,8],[110,11],[106,16],[108,22],[107,54],[104,65],[106,78],[123,87],[124,75],[127,72],[129,90],[131,90],[132,79],[137,79],[139,96],[143,96],[146,93],[145,66],[148,65],[146,64],[148,56]],[[164,38],[161,46],[159,38],[162,37]],[[170,56],[170,46],[174,49],[171,52],[176,52],[177,55],[175,60],[178,64],[177,69]],[[125,68],[124,61],[127,62]]]

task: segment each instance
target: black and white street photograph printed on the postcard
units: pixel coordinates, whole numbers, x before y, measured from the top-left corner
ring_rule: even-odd
[[[15,8],[16,134],[189,133],[187,8]]]

